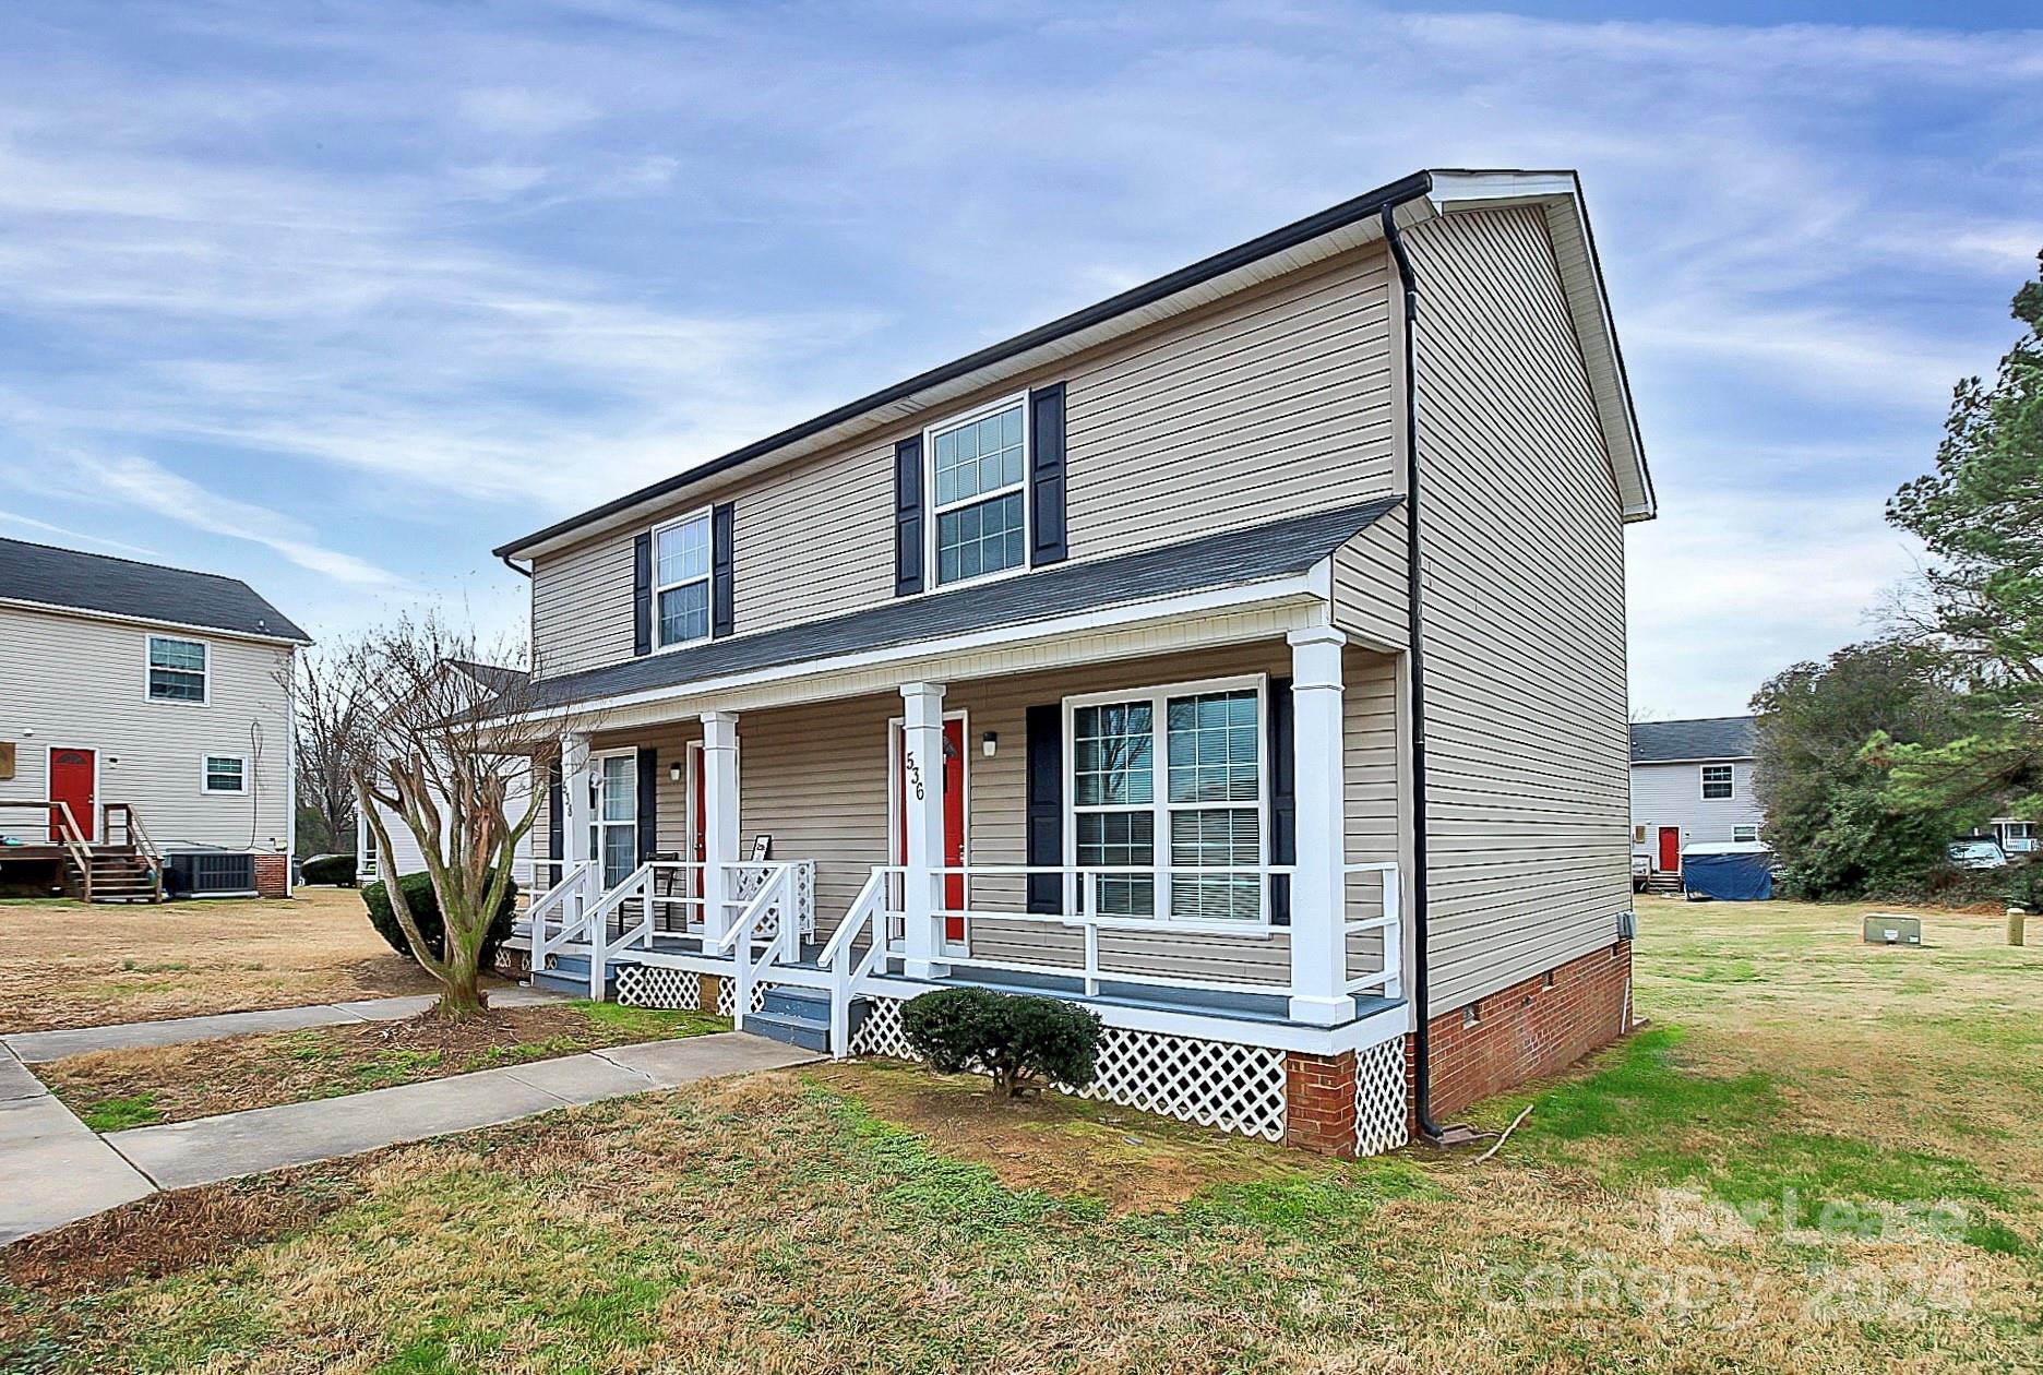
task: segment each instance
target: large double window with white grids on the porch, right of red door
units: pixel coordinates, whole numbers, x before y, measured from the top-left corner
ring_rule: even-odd
[[[1165,762],[1160,789],[1156,760]],[[1263,915],[1261,874],[1199,872],[1263,864],[1261,682],[1073,705],[1071,768],[1075,862],[1150,870],[1101,874],[1103,915]]]

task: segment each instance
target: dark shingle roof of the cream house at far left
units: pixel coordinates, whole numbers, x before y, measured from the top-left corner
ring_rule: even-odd
[[[0,599],[313,644],[241,578],[0,539]]]

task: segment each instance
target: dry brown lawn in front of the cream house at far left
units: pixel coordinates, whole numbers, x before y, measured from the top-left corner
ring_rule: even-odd
[[[0,1032],[433,989],[351,889],[155,907],[0,903]]]

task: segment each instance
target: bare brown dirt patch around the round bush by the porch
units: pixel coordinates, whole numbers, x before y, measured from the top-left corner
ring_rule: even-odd
[[[874,1118],[991,1169],[1009,1189],[1097,1199],[1115,1214],[1165,1212],[1201,1189],[1310,1173],[1312,1156],[1222,1136],[1115,1103],[1058,1093],[995,1099],[977,1077],[866,1060],[811,1079],[858,1097]]]

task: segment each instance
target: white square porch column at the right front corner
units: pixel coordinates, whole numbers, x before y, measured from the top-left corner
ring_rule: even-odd
[[[1346,778],[1340,648],[1330,625],[1295,629],[1291,642],[1297,874],[1291,879],[1291,1020],[1334,1026],[1355,1017],[1346,993]]]

